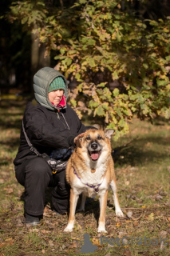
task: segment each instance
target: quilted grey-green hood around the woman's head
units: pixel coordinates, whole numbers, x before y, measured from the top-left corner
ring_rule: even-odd
[[[54,70],[51,67],[43,67],[41,70],[34,75],[34,95],[36,100],[45,108],[49,110],[60,109],[55,106],[51,102],[49,102],[49,86],[53,79],[61,77],[65,81],[65,101],[67,101],[68,97],[68,84],[69,81],[66,80],[65,76]],[[66,106],[64,106],[65,108]]]

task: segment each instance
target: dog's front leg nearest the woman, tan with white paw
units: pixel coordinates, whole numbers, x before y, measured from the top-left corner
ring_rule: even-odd
[[[65,227],[65,232],[72,232],[73,231],[73,224],[74,224],[74,216],[77,206],[77,200],[79,195],[73,193],[73,189],[70,190],[70,199],[69,199],[69,222]]]

